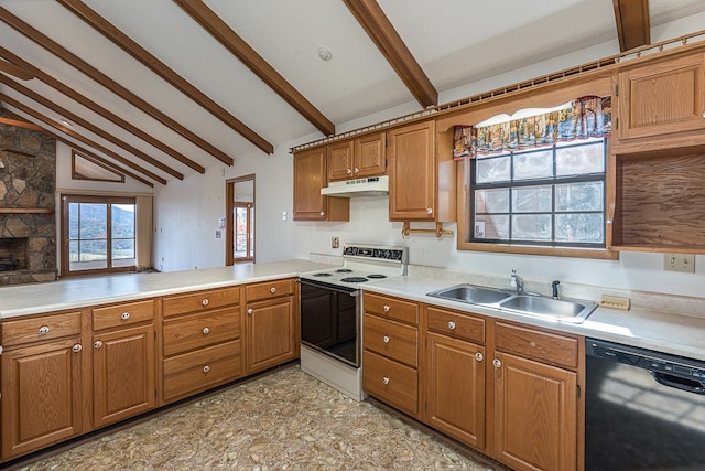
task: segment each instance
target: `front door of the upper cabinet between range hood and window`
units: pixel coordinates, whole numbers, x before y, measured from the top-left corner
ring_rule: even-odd
[[[434,121],[388,132],[390,221],[435,220],[434,132]]]

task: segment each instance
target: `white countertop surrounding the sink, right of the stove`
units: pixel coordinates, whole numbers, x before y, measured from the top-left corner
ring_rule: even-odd
[[[426,296],[427,292],[459,282],[482,285],[475,280],[471,274],[465,274],[464,278],[464,280],[458,280],[451,274],[448,278],[445,278],[438,276],[438,274],[430,275],[423,271],[420,274],[410,271],[405,277],[368,282],[362,285],[361,288],[364,291],[397,296],[459,311],[475,312],[497,319],[523,322],[705,361],[705,318],[702,317],[650,311],[643,308],[618,311],[598,307],[582,324],[573,324]],[[698,303],[699,311],[697,313],[702,315],[705,312],[705,299],[688,299],[686,306],[696,306],[695,309],[697,309]],[[666,303],[663,302],[662,304]],[[679,306],[679,303],[673,301],[671,306]]]

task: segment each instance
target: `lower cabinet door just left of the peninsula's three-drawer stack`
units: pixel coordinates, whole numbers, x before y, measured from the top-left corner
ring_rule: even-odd
[[[154,407],[152,325],[94,334],[93,366],[95,427]]]

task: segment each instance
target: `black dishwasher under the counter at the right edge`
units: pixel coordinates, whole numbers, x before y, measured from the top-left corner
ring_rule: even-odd
[[[705,362],[594,339],[586,353],[586,471],[705,470]]]

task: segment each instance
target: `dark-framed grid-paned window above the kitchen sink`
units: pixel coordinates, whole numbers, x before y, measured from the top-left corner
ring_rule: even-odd
[[[465,160],[459,248],[611,258],[606,161],[606,138]]]

